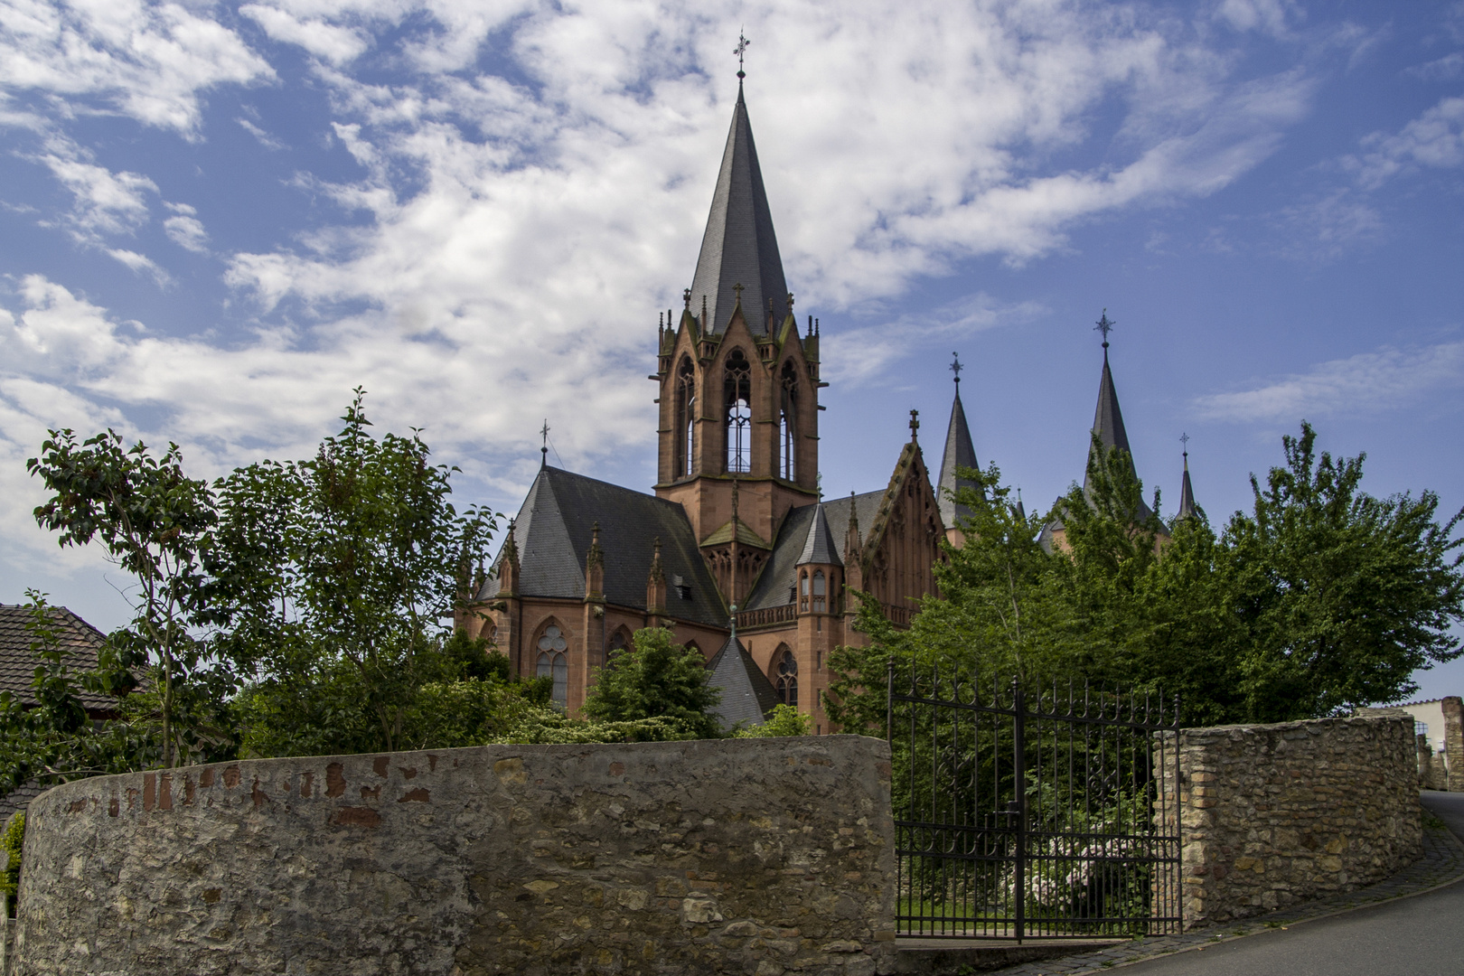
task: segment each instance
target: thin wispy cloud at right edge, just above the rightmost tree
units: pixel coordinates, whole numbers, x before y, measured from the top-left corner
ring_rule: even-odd
[[[1464,385],[1464,342],[1414,350],[1382,348],[1322,363],[1255,389],[1212,394],[1195,401],[1212,420],[1297,420],[1326,414],[1369,414],[1414,402],[1438,388]]]

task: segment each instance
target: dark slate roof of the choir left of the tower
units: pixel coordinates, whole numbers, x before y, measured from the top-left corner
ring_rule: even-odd
[[[539,470],[514,522],[520,596],[583,600],[584,556],[596,522],[609,603],[646,609],[653,540],[659,536],[668,616],[726,626],[726,606],[681,505],[552,467]],[[498,596],[496,569],[479,591],[480,600]],[[681,597],[678,579],[690,587],[690,598]]]

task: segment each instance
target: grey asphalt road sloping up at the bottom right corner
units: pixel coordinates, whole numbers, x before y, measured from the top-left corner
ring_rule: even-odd
[[[1464,793],[1423,793],[1423,806],[1464,837]],[[1124,967],[1124,976],[1458,976],[1464,973],[1464,882]]]

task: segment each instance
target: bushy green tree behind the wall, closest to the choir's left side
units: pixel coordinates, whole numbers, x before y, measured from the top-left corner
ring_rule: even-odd
[[[419,432],[370,436],[363,399],[312,459],[217,484],[212,613],[250,682],[253,749],[408,748],[422,689],[451,680],[444,620],[470,597],[496,517],[457,511],[455,468],[430,464]]]

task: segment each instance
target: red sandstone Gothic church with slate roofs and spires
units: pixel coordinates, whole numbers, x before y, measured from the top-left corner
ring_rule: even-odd
[[[1104,338],[1094,430],[1127,448]],[[653,493],[549,467],[545,448],[458,626],[490,638],[515,673],[552,676],[569,713],[634,631],[665,626],[707,658],[726,726],[761,723],[782,702],[830,732],[829,653],[864,641],[846,594],[909,622],[935,593],[941,540],[960,544],[949,492],[976,454],[957,366],[937,476],[911,411],[884,487],[821,499],[818,344],[818,320],[799,328],[793,315],[739,72],[695,274],[657,328]]]

